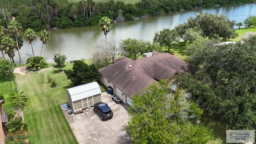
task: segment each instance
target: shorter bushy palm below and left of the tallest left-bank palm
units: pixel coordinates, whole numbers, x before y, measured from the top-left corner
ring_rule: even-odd
[[[15,47],[16,47],[16,44],[15,44],[15,41],[12,39],[12,38],[7,38],[7,37],[4,37],[2,40],[1,40],[1,44],[2,44],[2,49],[5,50],[5,54],[8,54],[9,58],[10,58],[10,61],[12,61],[14,63],[14,59],[13,57],[15,56]]]

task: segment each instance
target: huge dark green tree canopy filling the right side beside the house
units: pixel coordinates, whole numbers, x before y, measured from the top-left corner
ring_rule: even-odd
[[[229,128],[256,127],[256,36],[236,44],[210,44],[194,49],[192,74],[176,79],[209,114],[220,115]]]

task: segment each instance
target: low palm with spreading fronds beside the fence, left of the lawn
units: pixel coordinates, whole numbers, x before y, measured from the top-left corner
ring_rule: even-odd
[[[13,102],[12,104],[19,106],[20,109],[22,106],[26,106],[26,103],[28,102],[27,96],[22,95],[23,93],[24,93],[24,91],[17,93],[17,94],[14,92],[10,92],[10,94],[9,94],[10,101]]]

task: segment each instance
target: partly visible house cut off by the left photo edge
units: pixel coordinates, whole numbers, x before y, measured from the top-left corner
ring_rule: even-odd
[[[0,129],[0,144],[4,144],[5,134],[7,134],[5,124],[8,122],[7,116],[5,115],[4,108],[2,104],[4,100],[0,100],[0,122],[2,123],[2,129]]]

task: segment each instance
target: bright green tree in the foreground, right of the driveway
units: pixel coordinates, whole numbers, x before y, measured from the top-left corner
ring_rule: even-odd
[[[132,96],[126,131],[134,144],[204,144],[211,130],[196,125],[202,110],[183,90],[171,94],[167,81],[153,83]]]

